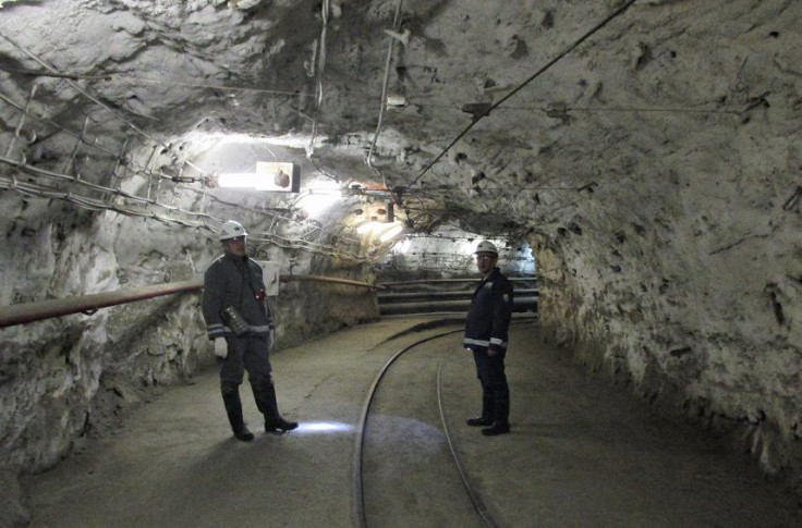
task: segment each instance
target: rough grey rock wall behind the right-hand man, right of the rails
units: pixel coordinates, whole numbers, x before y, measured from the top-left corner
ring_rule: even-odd
[[[730,434],[800,490],[800,216],[682,199],[689,214],[611,237],[534,236],[544,335],[667,414]]]

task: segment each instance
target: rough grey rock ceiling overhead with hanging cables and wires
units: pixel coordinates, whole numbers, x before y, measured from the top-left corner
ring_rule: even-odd
[[[520,236],[568,229],[594,193],[609,218],[731,177],[766,125],[800,127],[793,0],[0,3],[4,174],[93,180],[77,165],[155,144],[203,181],[210,134],[248,134],[306,181],[405,194],[416,229]],[[777,155],[799,172],[798,146]]]

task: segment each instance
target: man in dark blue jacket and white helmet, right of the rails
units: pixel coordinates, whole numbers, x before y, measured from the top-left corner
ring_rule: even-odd
[[[467,309],[464,346],[473,352],[482,383],[482,416],[469,419],[467,425],[485,427],[482,434],[495,437],[510,432],[505,356],[512,318],[512,284],[496,267],[498,250],[491,242],[479,242],[475,255],[482,282]]]

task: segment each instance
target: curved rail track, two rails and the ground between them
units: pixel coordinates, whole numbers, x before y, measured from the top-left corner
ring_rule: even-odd
[[[410,523],[415,526],[436,525],[438,516],[443,516],[440,521],[443,518],[450,523],[459,519],[460,526],[497,526],[476,484],[464,470],[459,446],[449,428],[441,383],[443,358],[434,360],[442,354],[423,349],[425,344],[458,332],[462,332],[462,329],[439,332],[399,349],[376,374],[356,431],[353,505],[357,526],[410,526],[394,517],[399,513],[414,517]],[[415,353],[423,354],[423,358],[400,360]],[[405,365],[401,366],[402,363]],[[398,371],[394,381],[391,371]],[[410,372],[413,376],[409,377]],[[404,381],[406,378],[414,378],[417,385]],[[424,393],[412,395],[413,400],[424,403],[410,404],[409,392]],[[416,412],[409,408],[414,405],[418,405]],[[433,407],[436,408],[433,410]],[[403,412],[403,415],[396,410]],[[443,441],[447,450],[443,450]],[[422,489],[413,491],[412,498],[404,498],[404,486]],[[367,494],[380,503],[375,504],[373,511],[381,512],[381,518],[378,513],[369,513]],[[423,501],[418,500],[421,495],[424,495]],[[390,516],[393,517],[390,519]]]

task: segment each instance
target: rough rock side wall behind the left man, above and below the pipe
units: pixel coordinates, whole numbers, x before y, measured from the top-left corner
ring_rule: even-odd
[[[220,254],[219,242],[192,229],[44,200],[26,212],[2,225],[10,243],[0,254],[3,305],[199,279]],[[315,282],[290,283],[271,306],[279,347],[378,314],[369,288]],[[116,427],[126,407],[212,365],[199,292],[3,329],[4,462],[48,468],[82,438]]]

